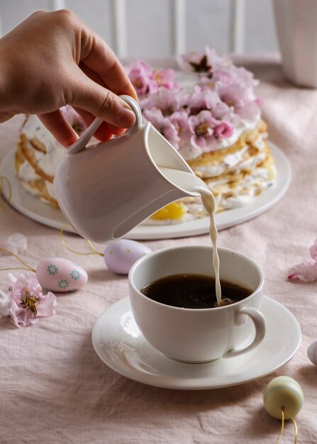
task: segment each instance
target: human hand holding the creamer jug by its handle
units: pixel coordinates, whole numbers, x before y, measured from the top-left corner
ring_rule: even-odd
[[[33,13],[0,39],[0,122],[37,114],[64,146],[78,136],[60,107],[71,105],[88,126],[104,123],[96,137],[107,140],[130,128],[135,115],[118,95],[137,99],[116,55],[74,13]]]

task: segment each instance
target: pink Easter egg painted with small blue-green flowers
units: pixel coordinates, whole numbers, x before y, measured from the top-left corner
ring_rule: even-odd
[[[43,289],[51,292],[73,292],[88,281],[88,274],[79,265],[62,257],[48,257],[38,264],[36,277]]]

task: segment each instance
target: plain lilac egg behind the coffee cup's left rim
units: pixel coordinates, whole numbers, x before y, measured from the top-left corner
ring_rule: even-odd
[[[104,262],[112,272],[128,274],[130,268],[140,257],[152,250],[143,243],[130,239],[119,239],[104,250]]]

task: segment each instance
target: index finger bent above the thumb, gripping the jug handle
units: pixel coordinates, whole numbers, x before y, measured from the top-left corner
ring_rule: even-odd
[[[107,89],[117,95],[128,94],[133,99],[138,100],[128,74],[126,74],[114,52],[99,35],[92,33],[90,30],[85,30],[82,33],[80,61],[99,75]]]

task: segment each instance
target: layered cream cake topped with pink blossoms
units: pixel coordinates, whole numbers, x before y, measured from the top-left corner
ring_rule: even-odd
[[[179,57],[179,70],[157,70],[137,60],[128,74],[150,121],[206,182],[217,211],[246,205],[274,182],[275,168],[261,118],[257,81],[210,48]],[[84,123],[70,107],[62,113],[77,133]],[[24,187],[57,206],[52,186],[65,148],[36,116],[27,116],[16,150]],[[179,223],[206,216],[199,198],[169,204],[146,223]]]

